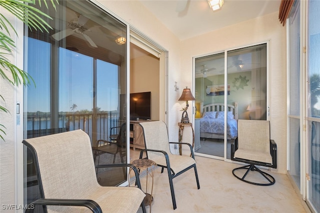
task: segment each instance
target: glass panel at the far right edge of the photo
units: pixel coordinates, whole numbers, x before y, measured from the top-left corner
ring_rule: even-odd
[[[308,1],[308,194],[307,201],[320,211],[320,2]]]

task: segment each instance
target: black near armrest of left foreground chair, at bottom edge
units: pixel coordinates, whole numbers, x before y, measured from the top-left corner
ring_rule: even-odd
[[[102,213],[100,206],[92,200],[82,199],[43,199],[40,198],[30,205],[41,206],[74,206],[74,207],[86,207],[92,211],[92,213]],[[34,209],[28,209],[25,213],[33,212]]]

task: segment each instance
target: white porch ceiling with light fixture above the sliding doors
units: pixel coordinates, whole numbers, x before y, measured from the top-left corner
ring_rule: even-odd
[[[180,40],[279,10],[281,0],[224,0],[212,11],[207,0],[140,0]],[[176,12],[178,3],[185,9]]]

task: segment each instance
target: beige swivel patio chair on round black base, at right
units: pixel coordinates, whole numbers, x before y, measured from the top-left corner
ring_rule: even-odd
[[[270,124],[264,120],[238,120],[238,136],[231,141],[231,160],[248,165],[235,168],[232,174],[237,179],[258,186],[269,186],[275,179],[262,172],[256,166],[276,168],[276,143],[270,140]],[[237,170],[246,170],[244,175],[235,174]],[[258,172],[264,181],[252,180],[247,176],[249,172]],[[245,179],[247,178],[247,179]]]

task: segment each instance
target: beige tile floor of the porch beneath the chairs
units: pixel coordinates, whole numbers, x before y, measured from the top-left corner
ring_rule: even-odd
[[[139,150],[131,150],[131,161]],[[173,179],[176,210],[173,211],[167,173],[155,168],[152,213],[305,213],[286,175],[272,174],[272,186],[255,186],[237,180],[231,171],[239,165],[195,156],[200,189],[193,170]],[[257,177],[255,177],[257,178]],[[254,179],[254,178],[253,178]],[[148,178],[148,190],[151,179]],[[140,178],[145,189],[145,176]],[[146,211],[150,209],[147,206]],[[139,208],[138,213],[142,210]]]

